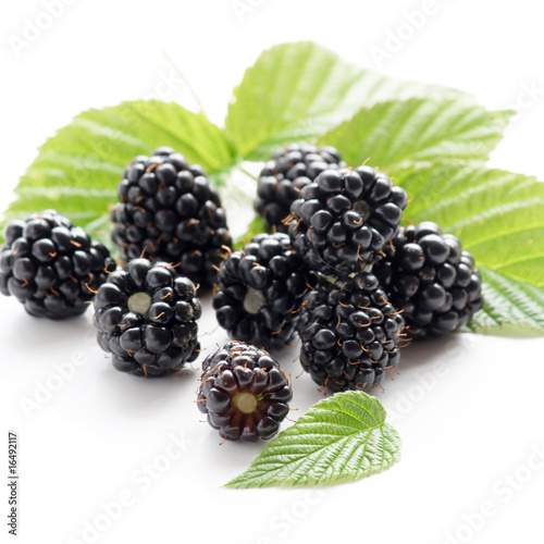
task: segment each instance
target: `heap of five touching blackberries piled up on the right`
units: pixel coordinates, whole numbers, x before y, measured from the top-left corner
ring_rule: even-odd
[[[221,264],[214,307],[231,337],[277,349],[301,339],[302,368],[327,392],[368,391],[411,339],[466,325],[481,279],[434,223],[400,227],[405,190],[347,169],[334,148],[290,145],[259,177],[273,231]]]

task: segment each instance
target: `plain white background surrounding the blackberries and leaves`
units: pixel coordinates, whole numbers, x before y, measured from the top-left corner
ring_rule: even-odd
[[[26,20],[36,22],[45,8],[2,2],[0,208],[37,147],[73,115],[156,95],[171,72],[163,50],[221,123],[232,87],[259,52],[302,39],[391,75],[461,88],[489,108],[517,106],[521,113],[492,164],[544,178],[539,3],[436,0],[420,28],[411,18],[410,30],[407,21],[423,3],[243,0],[249,9],[240,14],[231,0],[75,0],[17,54],[13,37],[23,38]],[[373,48],[385,49],[399,30],[398,50],[376,63]],[[196,107],[183,85],[165,98]],[[200,330],[207,353],[226,339],[209,310]],[[220,446],[199,422],[196,368],[157,381],[114,371],[94,341],[90,316],[36,320],[3,298],[0,346],[0,473],[8,429],[21,442],[16,542],[544,541],[542,338],[457,335],[406,350],[399,373],[374,392],[404,438],[401,461],[320,492],[221,489],[259,446]],[[281,359],[294,376],[296,355]],[[61,367],[71,372],[65,379]],[[294,382],[296,419],[322,394],[306,374]],[[57,391],[48,396],[44,387]],[[22,401],[35,395],[39,407],[25,413]],[[177,456],[172,436],[183,435]],[[10,542],[8,489],[0,489],[0,540]],[[132,500],[112,521],[103,505],[120,495]]]

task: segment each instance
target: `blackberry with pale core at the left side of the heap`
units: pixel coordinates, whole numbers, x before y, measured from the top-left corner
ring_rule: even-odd
[[[259,234],[221,264],[213,297],[218,322],[232,338],[271,350],[285,347],[310,277],[286,234]]]

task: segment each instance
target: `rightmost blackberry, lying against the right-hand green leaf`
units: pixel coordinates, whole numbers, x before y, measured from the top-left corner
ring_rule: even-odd
[[[400,228],[374,271],[413,339],[465,326],[483,306],[474,259],[436,223]]]

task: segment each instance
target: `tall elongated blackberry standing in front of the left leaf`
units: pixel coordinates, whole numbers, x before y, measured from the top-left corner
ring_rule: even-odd
[[[127,262],[180,263],[178,273],[211,286],[232,239],[215,187],[198,164],[169,147],[138,156],[126,168],[111,211],[113,242]]]

